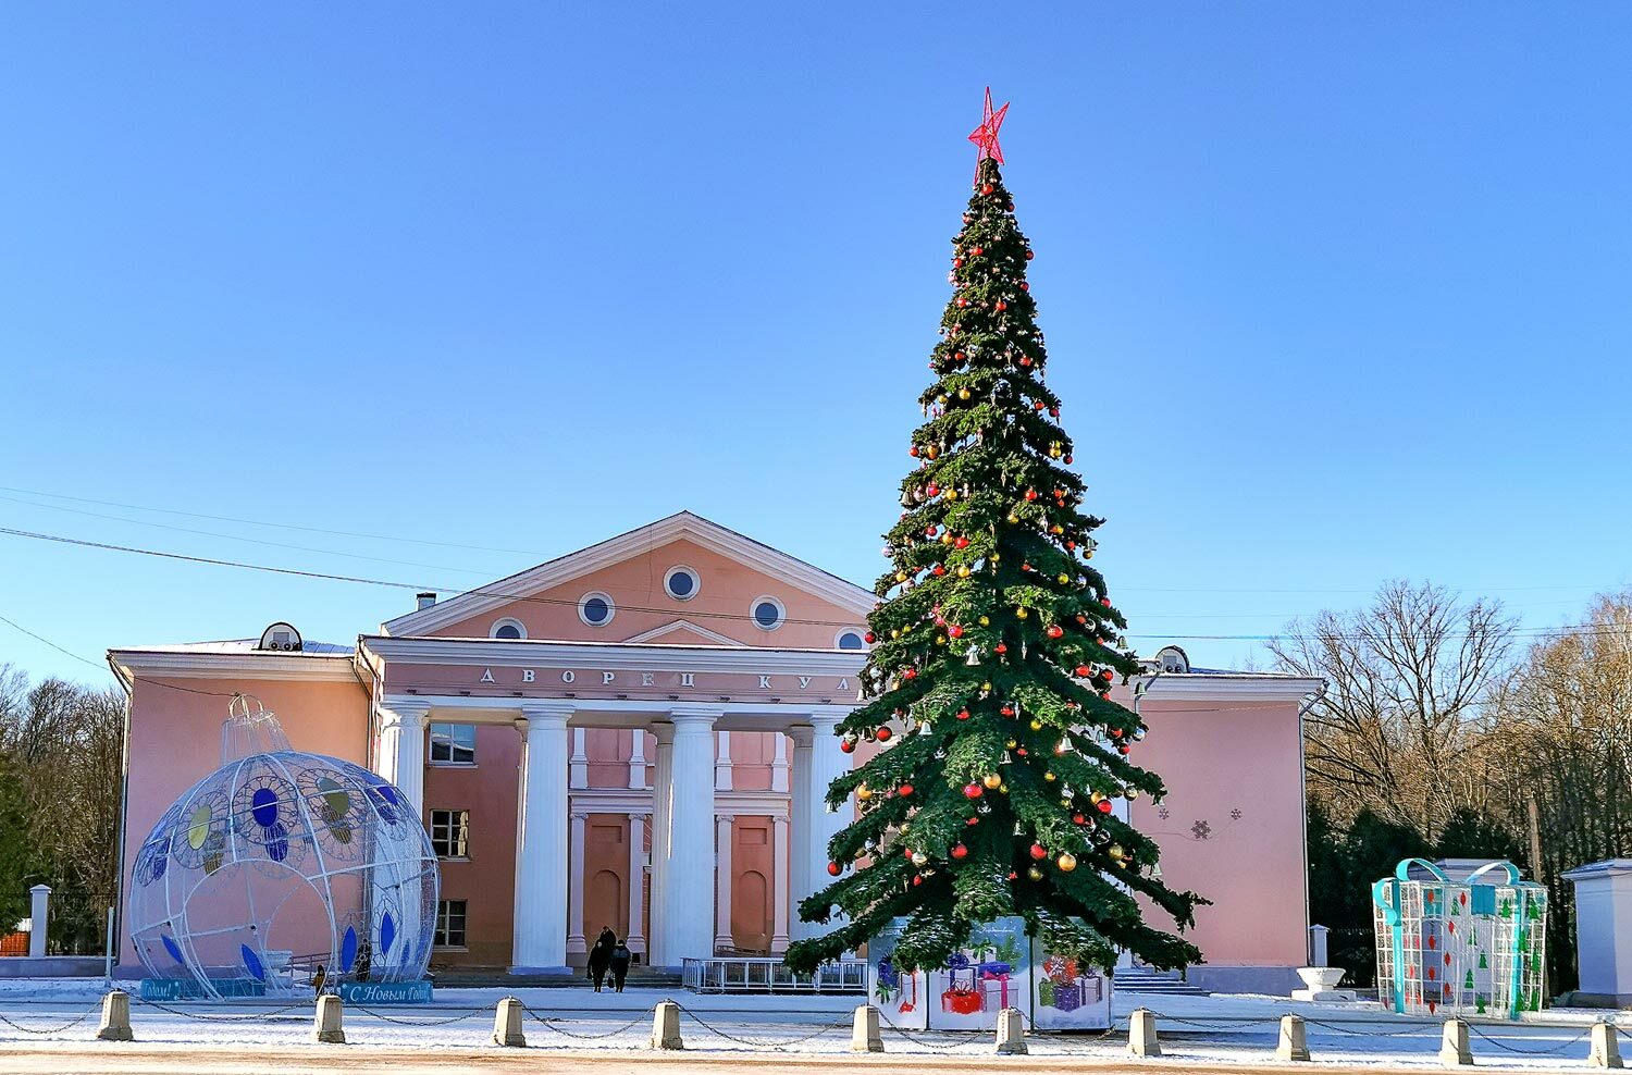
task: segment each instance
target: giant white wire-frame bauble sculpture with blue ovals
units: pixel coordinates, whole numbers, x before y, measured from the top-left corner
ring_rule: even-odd
[[[220,768],[165,811],[135,855],[131,936],[183,995],[290,995],[424,977],[437,861],[418,811],[361,765],[294,750],[235,697]]]

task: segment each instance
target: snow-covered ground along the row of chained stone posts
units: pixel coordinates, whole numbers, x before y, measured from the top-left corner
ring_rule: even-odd
[[[0,980],[0,1070],[8,1049],[85,1049],[95,1039],[100,980]],[[501,989],[441,989],[431,1006],[346,1010],[353,1046],[470,1049],[485,1046],[493,1031]],[[663,990],[592,993],[581,989],[519,989],[530,1010],[524,1031],[529,1046],[553,1051],[628,1051],[646,1044],[651,1008],[671,998]],[[685,1015],[681,1031],[689,1049],[736,1054],[847,1054],[850,1011],[857,997],[741,997],[674,993]],[[1031,1055],[1072,1055],[1116,1060],[1126,1054],[1126,1016],[1136,1006],[1159,1013],[1164,1065],[1183,1062],[1265,1064],[1271,1060],[1283,1015],[1307,1020],[1315,1060],[1348,1065],[1438,1067],[1438,1021],[1400,1018],[1376,1005],[1309,1005],[1284,997],[1216,995],[1157,997],[1120,993],[1118,1029],[1105,1036],[1038,1034]],[[153,1006],[132,998],[132,1026],[140,1042],[197,1046],[305,1046],[312,1005],[282,1010],[276,1002],[233,1005]],[[1546,1070],[1581,1067],[1586,1034],[1609,1013],[1549,1010],[1519,1024],[1475,1023],[1472,1052],[1482,1067]],[[86,1016],[73,1026],[70,1020]],[[1632,1033],[1632,1018],[1619,1013]],[[20,1029],[28,1028],[28,1029]],[[62,1029],[55,1029],[62,1028]],[[29,1033],[54,1031],[54,1033]],[[991,1034],[914,1033],[885,1029],[891,1054],[951,1057],[989,1055]],[[1632,1047],[1632,1042],[1627,1042]],[[96,1044],[93,1047],[108,1047]],[[982,1060],[989,1062],[989,1060]]]

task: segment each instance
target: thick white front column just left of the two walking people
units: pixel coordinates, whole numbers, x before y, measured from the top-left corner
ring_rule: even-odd
[[[566,971],[566,719],[573,703],[529,700],[516,837],[512,971]]]

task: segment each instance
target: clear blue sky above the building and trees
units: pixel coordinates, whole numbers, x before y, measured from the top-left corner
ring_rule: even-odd
[[[991,83],[1141,648],[1632,582],[1632,7],[1017,11],[8,5],[0,484],[516,551],[0,525],[449,591],[689,507],[870,584]],[[93,659],[410,605],[0,537]]]

